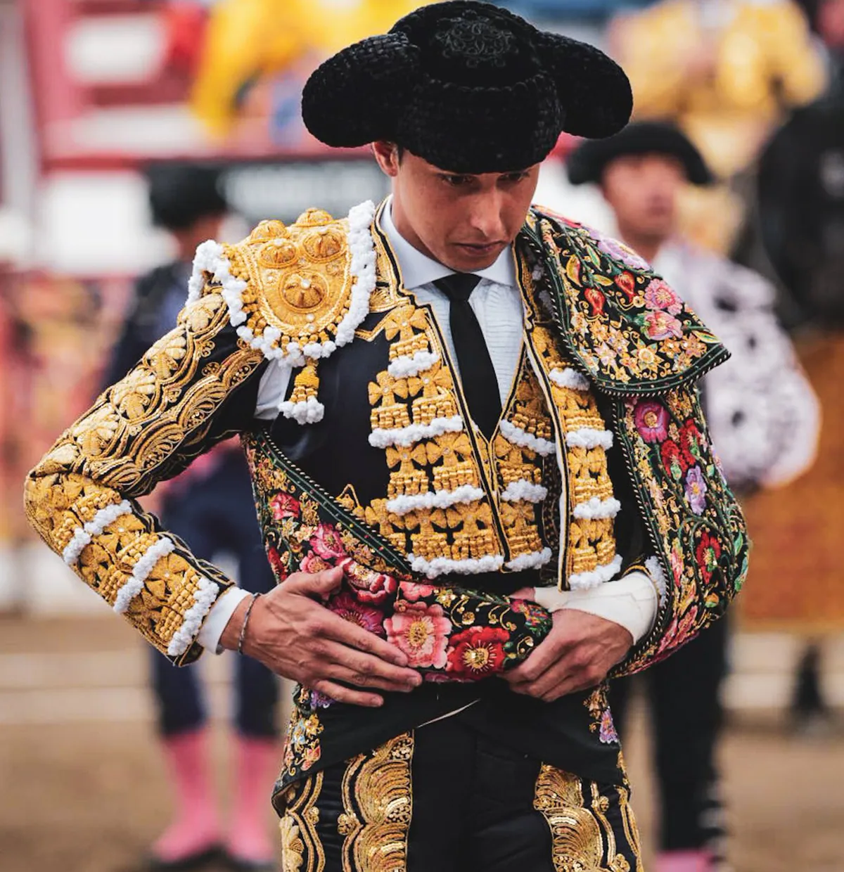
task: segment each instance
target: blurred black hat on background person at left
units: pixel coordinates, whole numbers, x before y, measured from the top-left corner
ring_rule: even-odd
[[[154,163],[146,167],[153,222],[167,230],[188,228],[208,215],[223,215],[228,203],[220,191],[220,167]]]

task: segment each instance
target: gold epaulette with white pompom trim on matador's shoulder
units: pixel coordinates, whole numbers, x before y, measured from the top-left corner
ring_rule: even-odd
[[[262,221],[236,245],[196,250],[188,302],[208,287],[228,304],[242,341],[283,367],[300,368],[279,411],[300,424],[322,419],[316,364],[351,342],[375,289],[371,201],[333,219],[308,209],[296,223]]]

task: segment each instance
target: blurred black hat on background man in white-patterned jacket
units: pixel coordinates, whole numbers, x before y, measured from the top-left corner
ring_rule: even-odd
[[[604,169],[611,160],[625,154],[670,154],[681,160],[686,178],[693,185],[708,185],[712,181],[709,167],[677,127],[662,121],[635,121],[621,133],[600,142],[582,142],[568,155],[568,181],[601,183]]]

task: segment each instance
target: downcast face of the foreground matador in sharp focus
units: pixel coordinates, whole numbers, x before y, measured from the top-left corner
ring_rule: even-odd
[[[512,173],[459,175],[394,146],[374,145],[392,178],[392,219],[408,242],[458,272],[490,266],[528,215],[539,164]]]

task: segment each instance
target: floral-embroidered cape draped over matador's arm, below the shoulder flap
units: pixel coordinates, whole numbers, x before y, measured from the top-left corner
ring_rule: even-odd
[[[655,550],[644,568],[660,594],[654,630],[616,669],[618,676],[668,657],[724,614],[744,583],[750,542],[694,387],[620,400],[615,415]]]

